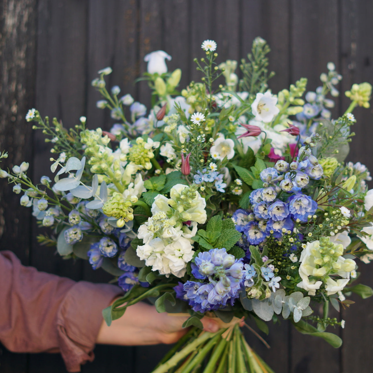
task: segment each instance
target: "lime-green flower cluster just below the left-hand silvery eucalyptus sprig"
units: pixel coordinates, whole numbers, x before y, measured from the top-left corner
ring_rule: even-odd
[[[131,206],[137,201],[138,198],[135,195],[128,195],[124,198],[122,193],[114,192],[113,196],[104,203],[102,211],[106,216],[118,219],[116,224],[122,228],[128,220],[134,219],[134,210]]]

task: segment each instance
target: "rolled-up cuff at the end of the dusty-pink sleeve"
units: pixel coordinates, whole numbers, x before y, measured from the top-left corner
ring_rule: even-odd
[[[117,286],[86,281],[77,282],[66,294],[57,313],[57,334],[68,372],[80,372],[81,364],[94,359],[102,310],[120,294]]]

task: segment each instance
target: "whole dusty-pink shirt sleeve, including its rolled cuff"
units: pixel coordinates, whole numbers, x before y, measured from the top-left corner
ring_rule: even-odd
[[[94,359],[102,310],[122,290],[22,266],[0,251],[0,341],[13,352],[60,352],[69,372]]]

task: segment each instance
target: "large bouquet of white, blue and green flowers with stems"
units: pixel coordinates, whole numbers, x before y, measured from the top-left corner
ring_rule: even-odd
[[[51,142],[52,181],[34,184],[29,164],[1,170],[21,205],[32,207],[64,258],[89,260],[125,291],[103,311],[110,325],[148,299],[159,312],[186,313],[190,327],[153,373],[273,372],[239,328],[251,317],[265,330],[289,319],[301,333],[334,347],[328,317],[372,289],[354,284],[356,260],[373,258],[373,189],[363,164],[345,163],[356,106],[369,107],[372,86],[354,84],[351,105],[331,119],[342,79],[333,63],[322,85],[301,78],[276,95],[267,85],[269,47],[256,38],[247,60],[217,64],[216,43],[195,59],[201,82],[178,92],[181,70],[167,71],[164,51],[145,56],[150,112],[131,95],[110,92],[105,68],[92,82],[117,122],[110,132],[65,129],[31,109],[26,120]],[[304,96],[304,98],[303,98]],[[1,158],[6,158],[3,152]],[[317,313],[323,305],[323,313]],[[225,324],[203,332],[204,315]]]

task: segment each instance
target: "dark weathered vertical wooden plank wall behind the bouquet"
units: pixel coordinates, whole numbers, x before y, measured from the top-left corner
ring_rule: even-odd
[[[2,0],[0,9],[0,148],[9,151],[8,167],[30,162],[35,181],[47,173],[49,153],[41,134],[25,121],[27,110],[36,107],[65,126],[86,115],[90,128],[108,129],[112,120],[95,108],[98,94],[91,80],[97,70],[112,66],[110,84],[148,103],[147,85],[133,81],[146,69],[144,55],[153,50],[173,57],[169,69],[182,69],[181,87],[198,79],[192,59],[203,56],[203,40],[216,40],[221,61],[239,60],[258,35],[272,48],[274,93],[301,76],[314,90],[329,61],[344,76],[342,92],[353,82],[373,82],[372,0]],[[347,106],[342,94],[336,113]],[[357,135],[348,160],[373,170],[372,110],[358,108],[354,114]],[[107,280],[83,261],[72,265],[38,246],[31,211],[19,206],[19,196],[4,181],[0,198],[1,249],[15,251],[39,270],[75,280]],[[372,270],[359,266],[361,282],[372,286]],[[342,311],[346,327],[338,350],[300,335],[286,322],[270,327],[270,350],[253,335],[248,340],[278,373],[372,372],[373,299],[353,299],[357,303]],[[83,372],[146,373],[166,350],[97,347],[94,363]],[[59,355],[1,348],[0,372],[58,373],[65,367]]]

